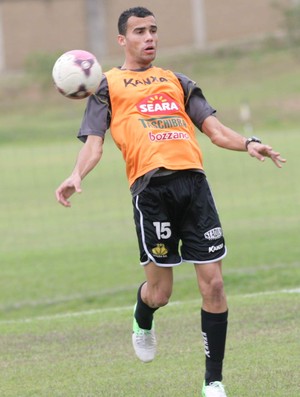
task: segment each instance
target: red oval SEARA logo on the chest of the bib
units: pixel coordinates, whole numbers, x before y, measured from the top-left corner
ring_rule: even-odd
[[[177,113],[179,105],[167,94],[149,95],[136,105],[138,111],[148,115],[167,115]]]

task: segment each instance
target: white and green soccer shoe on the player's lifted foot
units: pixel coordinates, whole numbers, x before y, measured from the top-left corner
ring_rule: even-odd
[[[135,313],[134,307],[134,312]],[[133,331],[132,331],[132,344],[137,357],[144,363],[152,361],[156,354],[156,338],[154,331],[154,321],[152,328],[142,329],[139,327],[135,315],[133,314]]]

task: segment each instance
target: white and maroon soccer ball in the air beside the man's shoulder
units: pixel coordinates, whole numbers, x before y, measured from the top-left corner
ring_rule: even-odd
[[[52,77],[62,95],[83,99],[96,92],[101,82],[102,68],[95,55],[88,51],[72,50],[57,59]]]

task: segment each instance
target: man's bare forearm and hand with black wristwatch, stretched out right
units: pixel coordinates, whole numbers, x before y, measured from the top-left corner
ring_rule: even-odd
[[[274,164],[281,168],[282,163],[286,160],[280,156],[280,153],[275,152],[271,146],[258,142],[251,142],[246,148],[247,138],[238,134],[229,127],[222,124],[216,117],[209,116],[202,123],[202,131],[209,139],[217,146],[225,149],[248,151],[250,156],[264,161],[265,157],[269,157]]]

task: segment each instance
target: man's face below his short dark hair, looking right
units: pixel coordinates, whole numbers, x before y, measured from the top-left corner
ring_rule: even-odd
[[[130,17],[127,21],[125,36],[119,35],[118,41],[125,48],[127,69],[146,67],[155,59],[157,49],[157,26],[155,18]]]

